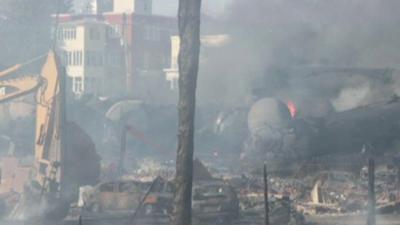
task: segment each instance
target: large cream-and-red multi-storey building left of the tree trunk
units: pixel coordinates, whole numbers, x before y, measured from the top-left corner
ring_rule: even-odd
[[[176,20],[152,15],[151,1],[114,0],[111,12],[59,18],[57,46],[76,96],[142,97],[164,85]]]

